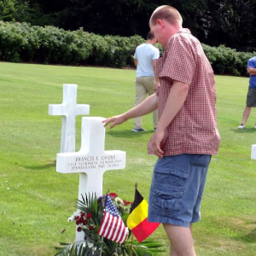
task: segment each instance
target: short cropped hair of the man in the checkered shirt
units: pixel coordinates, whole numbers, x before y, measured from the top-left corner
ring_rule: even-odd
[[[149,20],[149,24],[155,25],[156,20],[166,20],[172,25],[179,23],[183,24],[183,18],[177,11],[177,9],[173,8],[169,5],[162,5],[154,10],[154,13],[151,15]]]

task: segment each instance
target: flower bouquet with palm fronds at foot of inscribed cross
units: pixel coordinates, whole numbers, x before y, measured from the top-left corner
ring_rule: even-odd
[[[110,203],[113,203],[115,210],[119,213],[119,218],[124,224],[122,236],[125,238],[123,240],[116,238],[114,241],[114,235],[112,234],[110,237],[108,234],[109,236],[107,236],[109,231],[104,230],[103,222],[107,197],[112,201]],[[68,218],[68,221],[74,221],[77,225],[77,230],[84,232],[84,241],[75,241],[70,244],[61,243],[64,247],[57,247],[58,253],[55,256],[150,256],[163,252],[160,250],[160,243],[150,240],[140,243],[133,241],[131,231],[128,230],[126,224],[131,205],[132,202],[121,200],[115,193],[103,195],[98,199],[96,195],[83,196],[83,200],[79,201],[79,210],[74,212],[73,216]],[[116,237],[121,237],[121,231],[115,232],[117,233],[115,234]],[[104,235],[100,236],[99,234],[102,235],[102,233]]]

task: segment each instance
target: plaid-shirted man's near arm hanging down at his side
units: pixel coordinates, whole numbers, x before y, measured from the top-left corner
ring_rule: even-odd
[[[154,138],[152,141],[154,154],[162,158],[164,155],[161,149],[161,143],[165,137],[166,127],[172,122],[178,111],[183,107],[183,103],[189,92],[189,84],[184,84],[179,81],[174,81],[170,90],[166,107],[160,117],[156,127]]]

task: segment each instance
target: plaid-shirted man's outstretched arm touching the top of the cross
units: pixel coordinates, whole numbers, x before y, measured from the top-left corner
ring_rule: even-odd
[[[108,118],[102,121],[102,123],[104,123],[104,127],[106,127],[109,123],[113,123],[109,126],[109,128],[111,129],[115,125],[121,125],[128,119],[134,119],[136,117],[151,113],[155,109],[157,109],[157,98],[158,96],[156,96],[156,94],[154,93],[153,95],[148,96],[145,101],[137,105],[135,108],[131,108],[125,113]]]

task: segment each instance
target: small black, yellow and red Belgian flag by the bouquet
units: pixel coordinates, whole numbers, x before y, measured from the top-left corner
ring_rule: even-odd
[[[135,189],[134,201],[127,218],[127,226],[137,241],[142,242],[150,236],[160,223],[148,222],[148,202]]]

